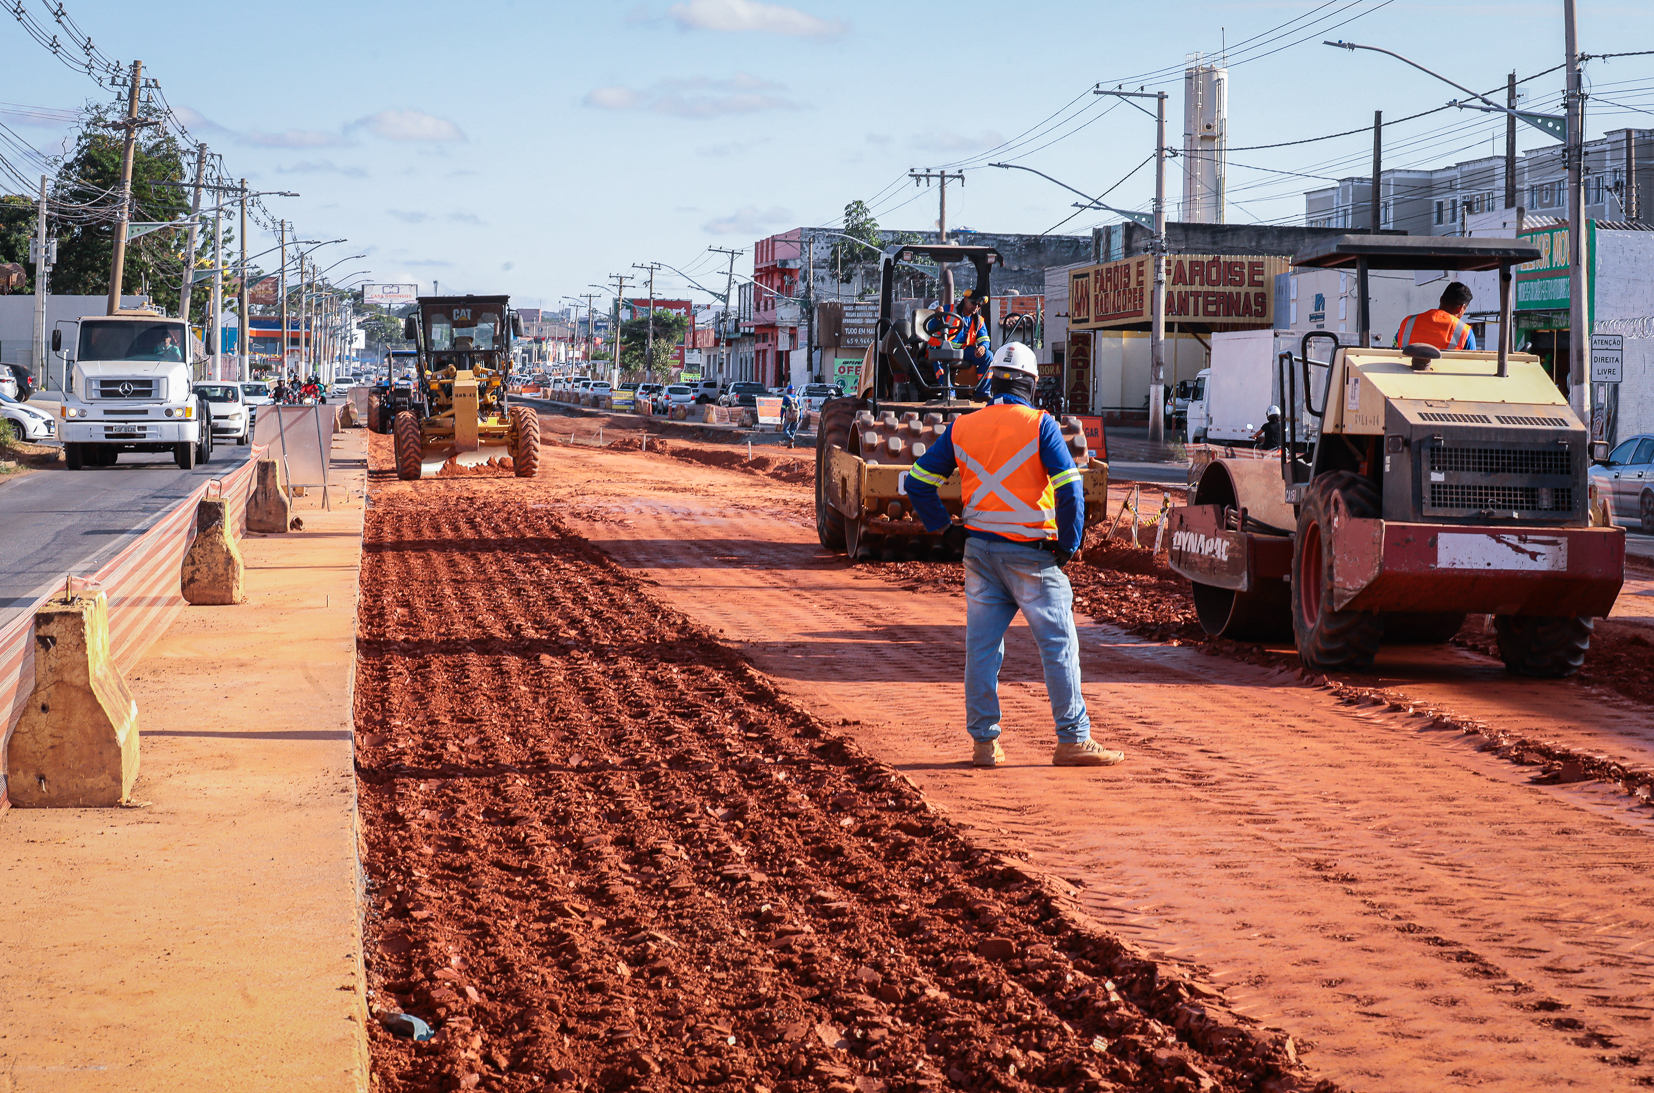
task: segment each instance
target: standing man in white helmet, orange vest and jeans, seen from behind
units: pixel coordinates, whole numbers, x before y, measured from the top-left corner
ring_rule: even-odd
[[[1017,610],[1034,633],[1057,723],[1059,767],[1100,767],[1125,752],[1092,739],[1080,694],[1080,640],[1073,590],[1062,567],[1080,549],[1085,494],[1055,418],[1034,408],[1039,364],[1007,342],[987,365],[991,400],[954,418],[908,471],[913,511],[928,531],[953,524],[936,488],[959,470],[964,501],[964,708],[971,762],[997,767],[999,666]]]

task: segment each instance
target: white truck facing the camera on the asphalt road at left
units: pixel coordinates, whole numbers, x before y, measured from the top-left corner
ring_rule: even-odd
[[[212,413],[195,392],[207,354],[184,319],[84,316],[51,332],[51,351],[69,377],[60,435],[71,471],[112,466],[122,451],[170,451],[185,471],[212,458]]]

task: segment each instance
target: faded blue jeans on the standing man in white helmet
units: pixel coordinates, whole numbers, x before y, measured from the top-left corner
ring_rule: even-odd
[[[1006,630],[1019,609],[1045,666],[1057,741],[1090,739],[1092,718],[1080,694],[1073,589],[1057,559],[1021,542],[966,539],[964,604],[964,729],[971,739],[999,736],[999,665],[1006,660]]]

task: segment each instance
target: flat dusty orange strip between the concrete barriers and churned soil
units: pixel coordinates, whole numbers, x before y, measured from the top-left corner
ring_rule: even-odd
[[[0,819],[0,1091],[367,1090],[352,680],[366,433],[127,683],[134,807]]]

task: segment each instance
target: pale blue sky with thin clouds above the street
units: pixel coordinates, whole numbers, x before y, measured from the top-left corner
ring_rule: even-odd
[[[1178,144],[1181,68],[1196,51],[1229,48],[1234,149],[1366,126],[1374,109],[1396,119],[1456,94],[1322,38],[1383,45],[1477,89],[1563,60],[1560,0],[288,0],[210,17],[174,0],[65,3],[108,56],[144,60],[232,175],[298,190],[270,203],[301,235],[349,238],[323,256],[367,251],[337,273],[506,291],[524,306],[557,306],[643,261],[721,289],[723,258],[708,245],[748,248],[736,268],[751,270],[756,238],[829,223],[852,198],[875,202],[883,227],[930,227],[935,192],[905,182],[910,167],[966,170],[966,185],[949,187],[953,227],[1087,231],[1107,218],[1064,223],[1070,193],[986,164],[1009,159],[1102,192],[1150,154],[1153,121],[1088,89],[1169,91]],[[46,18],[43,0],[25,5]],[[15,21],[0,35],[12,106],[108,98]],[[1581,0],[1580,40],[1588,53],[1654,50],[1654,5]],[[1591,136],[1654,126],[1654,56],[1594,61],[1588,76],[1603,99]],[[1525,88],[1535,109],[1551,109],[1561,73]],[[40,149],[61,139],[61,127],[3,104],[0,121]],[[1502,126],[1465,111],[1404,122],[1386,131],[1386,165],[1499,152]],[[1522,147],[1542,144],[1523,132]],[[1302,217],[1302,190],[1320,175],[1365,175],[1368,159],[1365,134],[1232,150],[1229,218]],[[1179,189],[1173,165],[1173,202]],[[1151,195],[1150,165],[1108,202],[1148,208]],[[670,271],[657,279],[663,296],[686,288]]]

